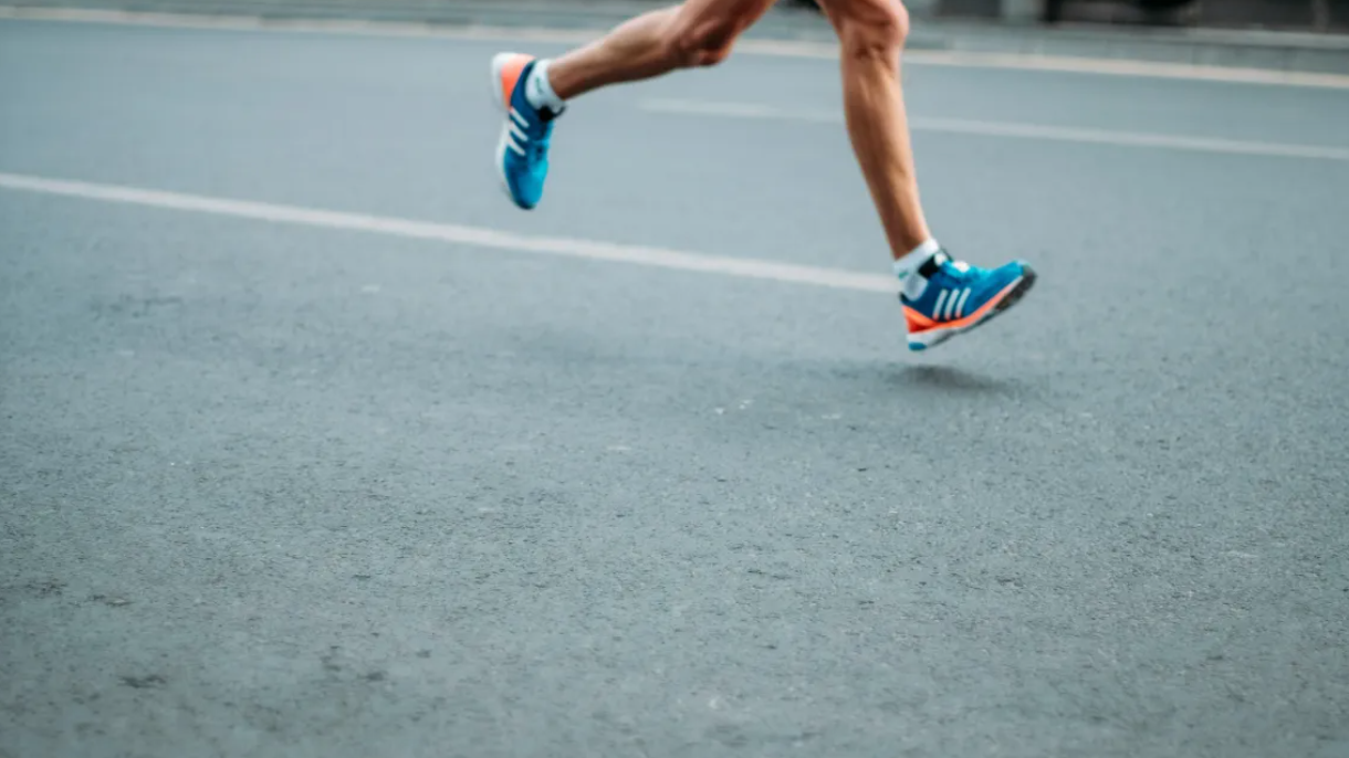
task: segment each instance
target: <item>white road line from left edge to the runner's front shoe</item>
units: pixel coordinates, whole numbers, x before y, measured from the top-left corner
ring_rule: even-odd
[[[820,268],[815,266],[774,263],[770,260],[706,255],[657,247],[625,245],[568,237],[527,236],[478,227],[460,227],[456,224],[411,221],[407,218],[393,218],[387,216],[343,213],[337,210],[321,210],[317,208],[227,200],[198,194],[51,179],[46,177],[28,177],[22,174],[0,173],[0,187],[16,192],[55,194],[104,202],[123,202],[170,210],[232,216],[236,218],[251,218],[256,221],[272,221],[324,229],[347,229],[395,237],[436,240],[469,247],[509,250],[513,252],[534,252],[591,260],[634,263],[641,266],[677,268],[680,271],[720,274],[724,276],[741,276],[746,279],[770,279],[796,285],[812,285],[819,287],[867,293],[894,294],[898,291],[898,281],[886,274],[861,274],[836,268]]]

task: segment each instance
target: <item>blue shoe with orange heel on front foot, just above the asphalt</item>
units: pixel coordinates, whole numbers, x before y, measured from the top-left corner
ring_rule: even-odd
[[[927,279],[923,294],[909,299],[900,293],[911,351],[936,347],[987,324],[1035,285],[1035,270],[1021,260],[998,268],[978,268],[954,260],[944,250],[923,263],[919,274]]]

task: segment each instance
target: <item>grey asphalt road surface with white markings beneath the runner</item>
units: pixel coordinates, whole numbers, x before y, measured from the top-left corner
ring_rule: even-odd
[[[1349,755],[1344,90],[502,47],[0,23],[0,755]]]

